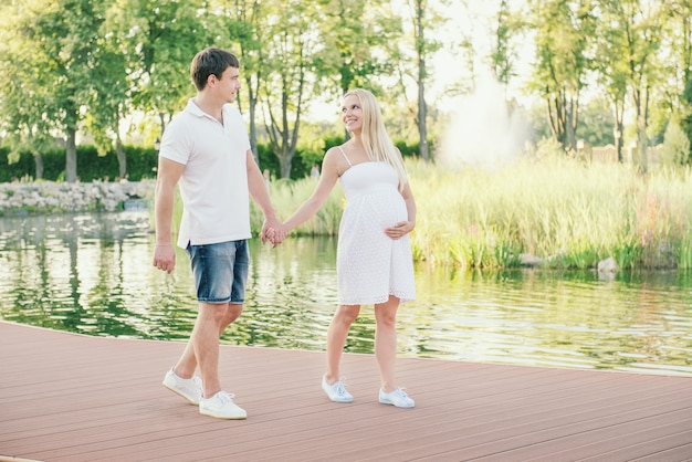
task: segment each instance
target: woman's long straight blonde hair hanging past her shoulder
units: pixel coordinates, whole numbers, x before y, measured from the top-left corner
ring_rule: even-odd
[[[363,140],[365,153],[370,160],[385,161],[394,167],[399,176],[399,190],[402,190],[408,182],[408,178],[406,176],[406,169],[403,168],[403,161],[401,160],[401,153],[399,153],[399,149],[391,143],[387,134],[382,113],[375,95],[367,90],[355,88],[346,92],[344,98],[350,95],[358,98],[363,109],[360,139]]]

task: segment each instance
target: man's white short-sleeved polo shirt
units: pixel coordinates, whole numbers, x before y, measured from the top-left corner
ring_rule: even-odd
[[[178,245],[249,239],[248,130],[240,112],[226,104],[223,124],[193,99],[166,128],[159,156],[185,165],[179,181],[182,218]]]

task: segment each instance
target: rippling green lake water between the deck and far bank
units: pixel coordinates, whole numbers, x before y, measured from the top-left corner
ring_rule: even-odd
[[[151,266],[146,210],[0,218],[0,318],[87,335],[187,339],[196,316],[185,252]],[[336,240],[251,240],[245,311],[223,344],[324,350]],[[417,267],[399,309],[401,356],[692,376],[692,273]],[[346,350],[373,353],[364,307]]]

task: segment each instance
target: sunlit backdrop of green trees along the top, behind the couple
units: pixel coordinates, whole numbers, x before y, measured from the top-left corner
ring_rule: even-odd
[[[462,3],[473,20],[469,2]],[[487,67],[472,69],[464,77],[471,82],[458,82],[457,88],[472,91],[474,80],[486,72],[506,90],[533,88],[544,99],[542,118],[568,149],[575,148],[576,139],[606,141],[612,127],[619,134],[618,149],[632,133],[643,154],[673,117],[692,138],[692,107],[684,93],[692,81],[688,0],[523,3],[528,7],[523,11],[505,0],[491,7],[490,50],[474,50],[470,32],[450,29],[458,35],[445,36],[444,46],[463,42],[459,46],[469,54],[464,65]],[[120,122],[136,118],[138,133],[128,143],[151,146],[193,95],[188,76],[191,57],[217,44],[240,52],[245,84],[239,108],[248,119],[253,149],[272,143],[279,169],[273,160],[265,162],[276,175],[300,177],[306,165],[321,158],[316,143],[324,134],[304,130],[311,103],[335,98],[356,85],[378,95],[390,108],[386,114],[390,133],[407,140],[419,138],[417,150],[426,157],[438,136],[427,128],[436,114],[426,102],[433,77],[427,63],[443,45],[433,35],[447,25],[438,10],[450,4],[447,0],[399,6],[381,0],[0,2],[3,146],[11,157],[34,156],[41,175],[41,154],[53,148],[56,138],[64,140],[64,177],[72,180],[85,177],[74,145],[86,140],[81,143],[95,144],[101,154],[115,149],[117,175],[132,176],[122,149]],[[523,73],[524,82],[510,85],[520,70],[513,60],[525,48],[533,48],[535,60]],[[607,102],[594,98],[593,107],[584,106],[584,96],[593,94]],[[440,97],[445,96],[449,93]],[[626,127],[628,113],[633,113],[635,123]],[[265,130],[258,130],[258,125]]]

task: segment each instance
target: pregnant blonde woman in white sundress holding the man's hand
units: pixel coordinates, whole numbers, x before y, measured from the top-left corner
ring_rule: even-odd
[[[339,376],[342,353],[360,305],[375,305],[379,402],[412,408],[413,400],[395,385],[394,369],[397,308],[400,302],[416,298],[408,237],[416,225],[416,201],[401,154],[387,134],[375,96],[365,90],[346,93],[342,119],[352,139],[327,150],[315,191],[284,222],[280,234],[314,216],[340,178],[348,204],[338,234],[339,305],[327,330],[327,370],[322,387],[332,401],[353,401]]]

